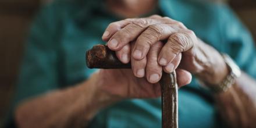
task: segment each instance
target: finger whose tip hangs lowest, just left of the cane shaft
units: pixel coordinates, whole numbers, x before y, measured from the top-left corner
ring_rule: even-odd
[[[157,57],[162,47],[163,44],[159,41],[153,44],[148,52],[146,74],[150,83],[157,83],[162,77],[162,66],[157,62]]]

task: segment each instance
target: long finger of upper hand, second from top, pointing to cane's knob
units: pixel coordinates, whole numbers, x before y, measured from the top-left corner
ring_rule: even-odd
[[[108,47],[113,51],[121,49],[129,42],[135,40],[140,33],[147,29],[150,24],[155,24],[158,20],[154,19],[137,19],[131,20],[130,24],[117,31],[108,41]]]

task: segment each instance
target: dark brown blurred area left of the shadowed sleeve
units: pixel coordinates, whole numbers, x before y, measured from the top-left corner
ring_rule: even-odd
[[[23,42],[39,0],[0,1],[0,127],[12,97]]]

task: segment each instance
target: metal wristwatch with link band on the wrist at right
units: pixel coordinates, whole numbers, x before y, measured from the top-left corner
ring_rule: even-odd
[[[222,54],[222,57],[229,68],[229,74],[218,86],[208,86],[214,93],[221,93],[227,91],[235,82],[237,77],[241,76],[241,70],[239,66],[230,58],[227,54]]]

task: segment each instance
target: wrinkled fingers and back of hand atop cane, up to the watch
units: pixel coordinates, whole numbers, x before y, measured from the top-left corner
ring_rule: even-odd
[[[120,61],[131,61],[135,76],[146,75],[150,83],[161,79],[162,70],[170,73],[178,66],[211,84],[220,83],[227,74],[218,51],[198,39],[183,23],[169,17],[153,15],[113,22],[102,40],[108,41],[108,47],[116,51]],[[191,77],[185,78],[191,81]]]

